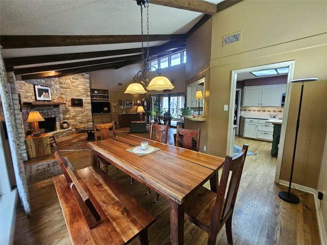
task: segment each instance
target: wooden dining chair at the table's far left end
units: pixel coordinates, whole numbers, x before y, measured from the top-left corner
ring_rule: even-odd
[[[116,137],[116,131],[114,129],[114,121],[112,122],[107,122],[105,124],[93,124],[93,130],[94,130],[94,138],[95,138],[95,141],[98,140],[98,133],[100,132],[100,137],[101,137],[101,140],[102,139],[109,139],[110,138],[110,130],[112,130],[112,135],[113,137]],[[101,163],[103,164],[103,167],[104,167],[104,171],[105,173],[107,174],[108,173],[108,165],[110,163],[108,163],[107,161],[105,161],[104,159],[102,158],[99,158],[99,161],[98,161],[98,166],[100,167]]]

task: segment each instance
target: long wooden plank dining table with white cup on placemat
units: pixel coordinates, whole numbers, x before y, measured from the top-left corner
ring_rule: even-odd
[[[144,156],[127,151],[142,141],[148,141],[149,146],[160,150]],[[217,191],[218,169],[223,166],[224,158],[132,134],[88,142],[88,145],[92,151],[92,165],[97,165],[101,157],[169,199],[171,243],[183,244],[184,204],[192,192],[208,180],[211,189]]]

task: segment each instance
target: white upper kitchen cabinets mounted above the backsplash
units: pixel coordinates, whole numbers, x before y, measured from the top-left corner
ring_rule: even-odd
[[[281,107],[283,85],[244,87],[243,106]]]

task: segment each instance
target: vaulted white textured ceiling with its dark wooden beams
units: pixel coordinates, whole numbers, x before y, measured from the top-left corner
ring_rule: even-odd
[[[186,37],[213,14],[240,1],[149,1],[151,57],[185,48]],[[6,70],[27,80],[140,62],[144,36],[136,2],[0,1],[0,44]],[[143,16],[146,34],[146,12]]]

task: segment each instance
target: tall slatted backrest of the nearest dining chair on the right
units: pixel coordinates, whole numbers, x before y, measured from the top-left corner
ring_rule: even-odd
[[[212,219],[212,222],[215,222],[215,220],[217,220],[217,224],[212,224],[214,227],[219,226],[220,222],[224,223],[224,219],[226,219],[226,217],[229,216],[229,214],[233,211],[237,192],[240,185],[247,149],[248,145],[244,144],[240,154],[238,154],[234,158],[230,156],[226,156],[225,158],[223,172],[220,178],[220,183],[217,192],[215,211],[213,214],[214,217]],[[227,184],[228,189],[225,197]]]

